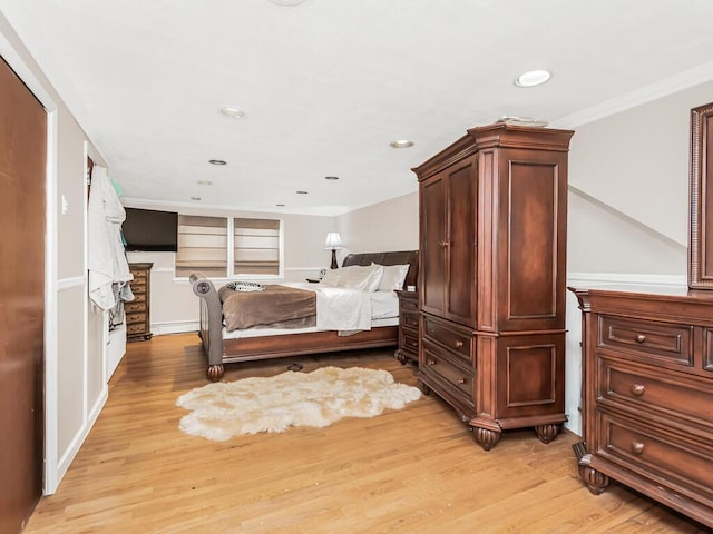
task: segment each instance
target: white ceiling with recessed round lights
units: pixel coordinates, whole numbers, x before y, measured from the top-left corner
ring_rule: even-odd
[[[570,127],[713,79],[711,0],[0,0],[0,11],[134,206],[339,215],[417,190],[410,168],[467,128],[505,115]],[[516,87],[530,69],[553,78]],[[399,138],[416,145],[391,148]]]

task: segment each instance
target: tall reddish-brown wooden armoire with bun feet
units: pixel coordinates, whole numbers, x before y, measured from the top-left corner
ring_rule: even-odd
[[[573,132],[477,127],[413,168],[424,392],[489,451],[550,442],[565,415],[567,152]]]

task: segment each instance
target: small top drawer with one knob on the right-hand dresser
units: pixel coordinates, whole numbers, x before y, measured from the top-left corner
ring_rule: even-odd
[[[599,316],[598,346],[624,349],[652,360],[693,365],[693,327],[653,320]]]

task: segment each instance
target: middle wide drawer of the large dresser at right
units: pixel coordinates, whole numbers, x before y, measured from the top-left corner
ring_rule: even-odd
[[[598,397],[638,411],[666,415],[713,427],[713,388],[710,380],[681,376],[655,367],[598,358]]]

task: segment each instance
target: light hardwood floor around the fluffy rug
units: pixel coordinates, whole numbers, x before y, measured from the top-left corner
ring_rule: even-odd
[[[392,350],[228,366],[225,379],[293,362],[384,368],[416,384]],[[436,396],[328,428],[187,436],[175,400],[206,383],[204,370],[195,334],[129,344],[104,412],[26,534],[707,532],[616,484],[593,496],[572,434],[544,445],[534,432],[507,433],[486,453]]]

